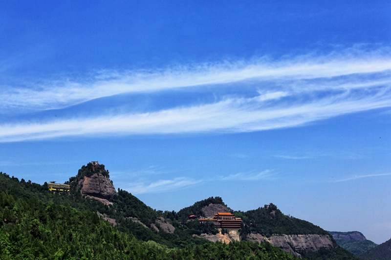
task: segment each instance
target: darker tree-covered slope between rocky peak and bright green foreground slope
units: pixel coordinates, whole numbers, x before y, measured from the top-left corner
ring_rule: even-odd
[[[79,192],[72,189],[69,193],[52,193],[48,190],[46,183],[40,185],[23,179],[19,181],[18,178],[10,177],[1,172],[0,190],[18,198],[30,198],[46,203],[69,205],[79,211],[99,212],[114,219],[118,224],[118,229],[130,232],[136,239],[142,241],[153,240],[172,248],[185,247],[188,243],[203,244],[209,242],[205,239],[195,238],[180,229],[175,230],[174,234],[153,231],[152,223],[159,214],[144,202],[123,190],[119,190],[118,194],[112,199],[113,204],[108,206],[97,200],[86,199]],[[130,217],[139,219],[147,228],[132,221]]]

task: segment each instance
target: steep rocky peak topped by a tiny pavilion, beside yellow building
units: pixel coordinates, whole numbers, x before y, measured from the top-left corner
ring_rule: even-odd
[[[71,187],[81,194],[104,203],[109,203],[109,199],[117,193],[109,179],[109,171],[105,169],[104,164],[97,161],[89,162],[87,166],[83,165],[77,176],[69,181]]]

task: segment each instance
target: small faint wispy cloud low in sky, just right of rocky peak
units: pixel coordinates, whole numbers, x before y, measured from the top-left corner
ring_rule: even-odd
[[[169,192],[183,188],[187,188],[202,182],[202,180],[194,180],[185,177],[175,178],[173,180],[157,180],[152,183],[137,182],[126,187],[132,194]]]

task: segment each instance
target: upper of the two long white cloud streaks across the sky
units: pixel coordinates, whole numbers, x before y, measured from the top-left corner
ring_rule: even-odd
[[[252,61],[205,63],[162,70],[102,71],[97,77],[76,82],[70,79],[4,87],[0,108],[59,109],[87,100],[123,93],[154,92],[202,85],[223,85],[245,80],[302,80],[389,71],[388,50],[335,53],[328,56],[301,56],[280,61],[265,58]],[[388,81],[390,79],[388,78]],[[30,85],[30,86],[29,86]],[[340,86],[342,87],[342,86]],[[349,84],[343,86],[349,87]],[[357,87],[357,85],[353,86]],[[283,93],[283,92],[281,92]],[[259,97],[262,99],[262,96]]]

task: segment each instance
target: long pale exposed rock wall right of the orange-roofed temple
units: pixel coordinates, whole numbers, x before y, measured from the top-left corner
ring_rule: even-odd
[[[296,251],[309,250],[318,251],[324,247],[326,249],[334,248],[333,240],[327,235],[273,235],[269,238],[260,234],[249,234],[246,238],[249,241],[267,241],[273,246],[278,246],[282,250],[300,256]]]

